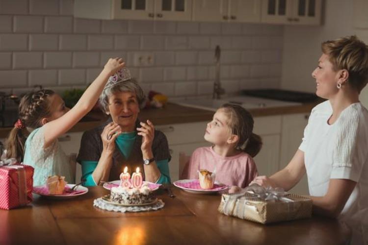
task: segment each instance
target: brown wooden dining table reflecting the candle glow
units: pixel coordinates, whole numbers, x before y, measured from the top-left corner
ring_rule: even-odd
[[[31,205],[0,210],[0,244],[344,244],[349,231],[333,219],[262,225],[220,214],[219,195],[195,195],[176,187],[175,198],[157,191],[165,207],[140,213],[108,212],[93,207],[106,195],[91,187],[83,196],[50,200],[34,196]]]

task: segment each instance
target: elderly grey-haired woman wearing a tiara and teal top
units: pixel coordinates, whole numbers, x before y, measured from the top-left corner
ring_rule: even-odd
[[[146,181],[170,183],[169,148],[165,135],[154,125],[139,122],[144,93],[131,80],[129,70],[120,70],[109,78],[101,96],[103,111],[111,118],[102,126],[83,133],[78,162],[86,186],[119,180],[127,166],[139,167]]]

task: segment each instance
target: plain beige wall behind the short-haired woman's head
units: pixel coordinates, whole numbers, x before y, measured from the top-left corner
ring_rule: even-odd
[[[368,30],[354,28],[353,1],[326,0],[324,25],[284,27],[284,51],[281,88],[315,92],[315,80],[311,73],[321,55],[320,44],[348,35],[358,35],[368,44]],[[368,105],[368,89],[361,95]]]

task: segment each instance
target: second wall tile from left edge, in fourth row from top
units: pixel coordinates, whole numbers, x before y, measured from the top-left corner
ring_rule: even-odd
[[[42,52],[14,52],[13,69],[42,68]]]

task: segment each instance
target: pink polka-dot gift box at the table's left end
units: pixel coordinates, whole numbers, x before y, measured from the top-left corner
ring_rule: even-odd
[[[0,167],[0,208],[12,209],[32,201],[33,171],[28,165]]]

